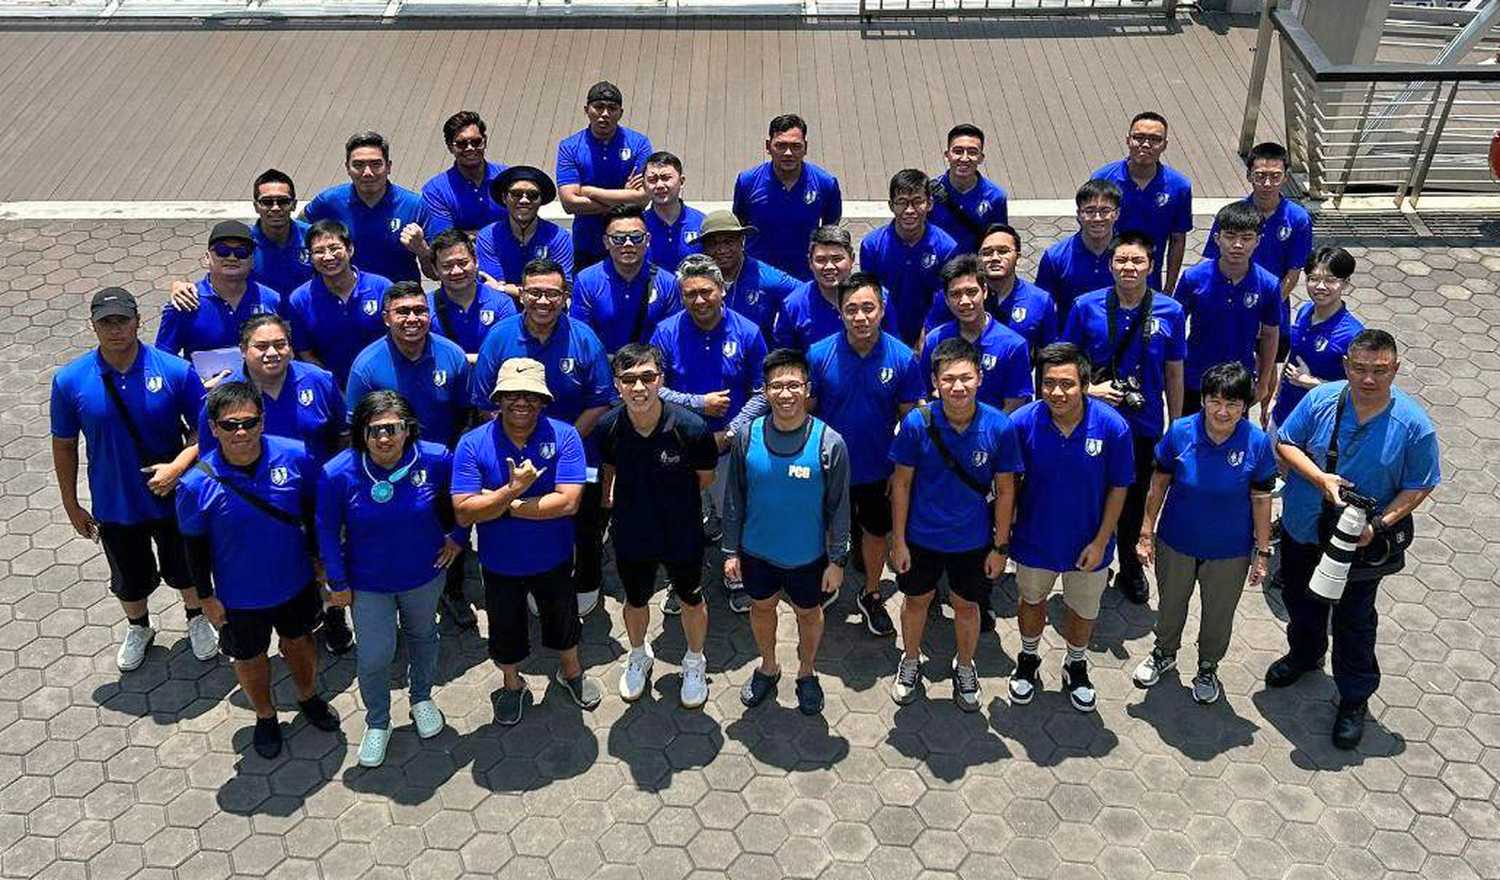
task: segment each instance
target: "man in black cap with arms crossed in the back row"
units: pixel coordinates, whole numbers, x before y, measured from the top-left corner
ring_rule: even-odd
[[[645,207],[651,138],[620,124],[626,97],[614,82],[588,88],[588,126],[558,144],[558,196],[573,214],[573,262],[582,270],[604,258],[604,214],[621,205]]]

